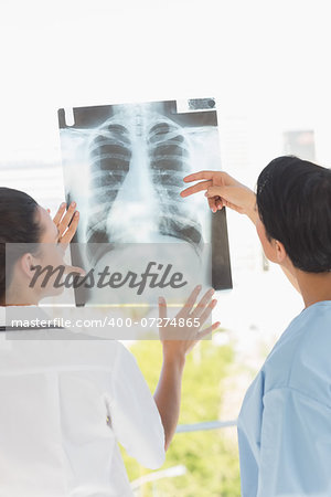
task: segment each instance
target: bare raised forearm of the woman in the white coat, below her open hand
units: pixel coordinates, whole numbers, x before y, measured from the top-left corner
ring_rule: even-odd
[[[174,435],[181,405],[181,387],[185,358],[164,357],[160,380],[154,393],[166,436],[166,451]]]

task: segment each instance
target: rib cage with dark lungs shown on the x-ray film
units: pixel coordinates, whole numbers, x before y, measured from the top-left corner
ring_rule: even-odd
[[[201,225],[180,197],[182,178],[190,172],[190,148],[183,128],[157,113],[115,115],[93,133],[89,155],[89,218],[86,242],[113,243],[107,226],[111,207],[130,170],[132,147],[146,150],[150,181],[158,199],[161,235],[189,242],[199,252]],[[130,240],[127,240],[130,242]],[[98,260],[97,245],[88,246],[89,260]],[[102,247],[99,247],[102,250]]]

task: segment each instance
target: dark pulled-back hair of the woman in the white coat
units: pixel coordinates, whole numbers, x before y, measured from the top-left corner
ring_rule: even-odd
[[[38,203],[28,193],[0,187],[0,303],[4,304],[15,262],[26,252],[25,245],[40,241],[42,228],[38,222]],[[6,261],[6,243],[15,243]],[[6,267],[7,265],[7,267]],[[7,274],[7,278],[6,278]]]

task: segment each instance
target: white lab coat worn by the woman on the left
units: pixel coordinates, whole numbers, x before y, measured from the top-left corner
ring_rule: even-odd
[[[164,462],[136,359],[117,341],[39,332],[0,334],[0,497],[131,496],[117,442],[146,467]]]

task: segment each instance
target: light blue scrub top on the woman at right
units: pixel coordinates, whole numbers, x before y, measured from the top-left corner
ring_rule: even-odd
[[[243,497],[331,496],[331,300],[305,308],[238,417]]]

